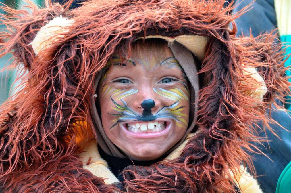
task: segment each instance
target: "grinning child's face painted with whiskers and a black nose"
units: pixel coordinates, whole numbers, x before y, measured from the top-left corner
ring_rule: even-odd
[[[187,130],[186,75],[171,50],[164,49],[162,57],[133,50],[130,60],[122,65],[122,59],[113,57],[109,61],[113,66],[100,80],[104,131],[113,144],[135,160],[159,158]]]

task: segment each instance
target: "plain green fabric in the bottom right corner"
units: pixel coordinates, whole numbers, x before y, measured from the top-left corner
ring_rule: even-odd
[[[276,193],[289,192],[291,192],[291,162],[285,167],[285,169],[281,173],[276,188]]]

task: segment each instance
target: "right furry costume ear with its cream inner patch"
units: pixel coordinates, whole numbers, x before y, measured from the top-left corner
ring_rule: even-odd
[[[238,44],[244,47],[238,53],[241,56],[242,80],[240,91],[245,96],[251,96],[255,103],[270,102],[273,95],[282,98],[288,91],[288,83],[283,72],[288,70],[284,65],[282,47],[271,34],[260,35],[256,38],[242,37]]]

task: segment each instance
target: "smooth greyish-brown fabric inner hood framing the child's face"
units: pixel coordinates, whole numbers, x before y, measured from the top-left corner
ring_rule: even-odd
[[[184,142],[185,137],[194,129],[194,126],[196,124],[197,120],[197,97],[198,97],[198,91],[199,91],[199,79],[197,74],[197,61],[194,62],[194,55],[182,44],[178,43],[177,41],[173,41],[169,43],[169,47],[171,48],[175,58],[178,60],[182,68],[184,69],[187,78],[190,82],[190,110],[189,110],[189,124],[187,131],[183,135],[182,139],[175,144],[171,149],[169,149],[165,154],[170,153],[174,149],[176,149],[182,142]],[[95,93],[97,93],[97,85],[100,81],[101,77],[100,73],[96,80],[95,80]],[[101,117],[99,116],[99,113],[97,111],[96,107],[96,101],[98,100],[97,94],[95,97],[92,97],[91,100],[91,106],[93,107],[93,120],[94,120],[94,126],[97,133],[97,142],[100,145],[100,147],[103,149],[103,151],[111,156],[116,157],[125,157],[124,153],[122,153],[107,137],[103,126]]]

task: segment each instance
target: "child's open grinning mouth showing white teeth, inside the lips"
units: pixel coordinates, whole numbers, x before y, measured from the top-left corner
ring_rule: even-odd
[[[131,122],[123,126],[133,133],[156,133],[163,131],[169,125],[166,121]]]

